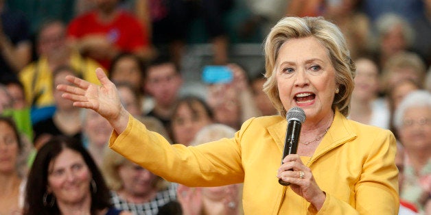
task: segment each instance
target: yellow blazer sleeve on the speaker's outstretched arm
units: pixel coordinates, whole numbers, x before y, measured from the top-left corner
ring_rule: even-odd
[[[170,144],[129,115],[126,130],[121,134],[113,131],[109,147],[167,181],[185,186],[222,186],[244,180],[237,142],[235,137],[197,147]]]

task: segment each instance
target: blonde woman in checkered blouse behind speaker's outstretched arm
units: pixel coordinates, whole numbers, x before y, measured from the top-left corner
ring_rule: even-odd
[[[144,117],[140,121],[151,131],[167,134],[155,118]],[[176,184],[165,181],[108,148],[104,151],[102,172],[111,190],[111,201],[119,210],[132,214],[157,214],[159,207],[176,200]]]

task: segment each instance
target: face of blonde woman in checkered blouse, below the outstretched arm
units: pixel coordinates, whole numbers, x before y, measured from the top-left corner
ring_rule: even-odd
[[[132,196],[145,196],[154,192],[156,175],[137,164],[126,161],[118,168],[123,191]]]

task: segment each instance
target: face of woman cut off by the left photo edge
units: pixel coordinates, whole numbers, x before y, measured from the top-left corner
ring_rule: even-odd
[[[0,121],[0,175],[16,170],[19,145],[14,129],[4,121]]]

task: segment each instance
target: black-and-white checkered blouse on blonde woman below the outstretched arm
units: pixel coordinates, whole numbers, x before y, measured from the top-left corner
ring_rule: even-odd
[[[128,203],[119,197],[115,191],[110,192],[111,201],[119,210],[130,211],[136,215],[156,215],[159,212],[159,207],[176,200],[177,186],[178,184],[170,183],[168,188],[157,192],[156,197],[147,203]]]

